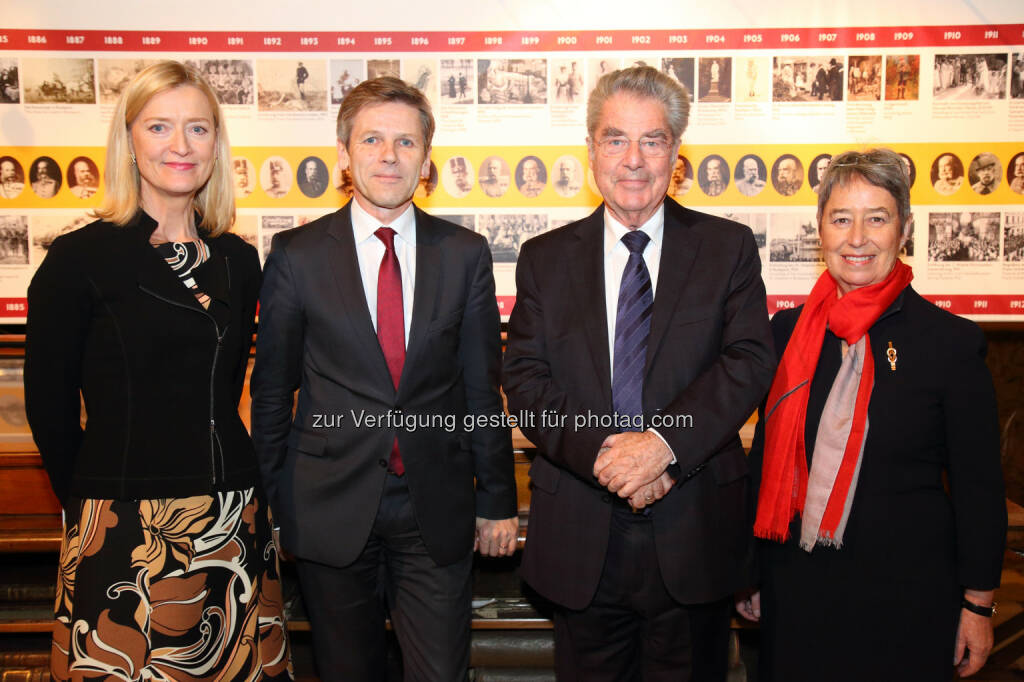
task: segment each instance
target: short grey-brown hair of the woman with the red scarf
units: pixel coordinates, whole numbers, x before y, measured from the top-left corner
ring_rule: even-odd
[[[896,200],[900,231],[907,229],[910,219],[910,178],[906,174],[903,159],[892,150],[876,148],[866,152],[844,152],[833,157],[818,189],[818,223],[824,214],[825,204],[836,185],[846,186],[854,178],[860,178],[877,187],[882,187]]]

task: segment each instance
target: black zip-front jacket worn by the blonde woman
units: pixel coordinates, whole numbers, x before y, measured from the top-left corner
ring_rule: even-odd
[[[139,211],[61,236],[29,286],[26,412],[61,504],[259,481],[238,414],[259,256],[236,235],[204,238],[211,258],[194,274],[218,302],[208,311],[150,244],[156,228]]]

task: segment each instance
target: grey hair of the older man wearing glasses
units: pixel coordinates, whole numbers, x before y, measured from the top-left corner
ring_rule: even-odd
[[[665,106],[673,141],[679,143],[689,122],[690,93],[686,86],[653,67],[621,69],[601,77],[587,101],[587,134],[591,139],[597,132],[604,102],[618,92],[659,101]]]

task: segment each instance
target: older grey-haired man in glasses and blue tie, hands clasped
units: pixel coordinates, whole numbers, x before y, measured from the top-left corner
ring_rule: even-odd
[[[504,385],[539,415],[522,574],[560,680],[724,680],[750,576],[737,429],[775,355],[751,230],[666,199],[688,110],[655,69],[601,78],[604,203],[519,254]]]

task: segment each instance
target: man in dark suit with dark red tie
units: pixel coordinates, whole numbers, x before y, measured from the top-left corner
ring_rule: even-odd
[[[515,549],[490,253],[412,203],[433,129],[413,86],[359,84],[338,114],[353,200],[266,261],[253,440],[324,680],[383,679],[385,605],[406,679],[464,679],[474,542]]]

